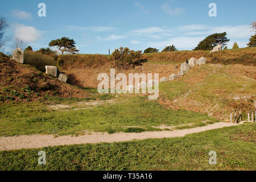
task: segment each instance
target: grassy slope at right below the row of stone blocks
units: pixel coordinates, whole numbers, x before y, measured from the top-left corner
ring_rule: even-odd
[[[256,107],[256,67],[241,64],[205,64],[183,77],[160,84],[160,104],[229,120],[229,113]],[[244,118],[247,118],[243,115]]]

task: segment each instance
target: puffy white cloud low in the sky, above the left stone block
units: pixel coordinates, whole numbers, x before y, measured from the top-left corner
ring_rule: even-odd
[[[41,37],[41,32],[35,27],[24,26],[23,24],[15,25],[15,36],[26,42],[36,42]]]

